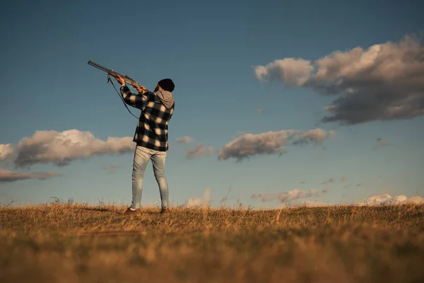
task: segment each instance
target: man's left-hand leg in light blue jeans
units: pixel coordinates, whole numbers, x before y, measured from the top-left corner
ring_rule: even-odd
[[[143,151],[142,146],[137,146],[134,152],[134,163],[132,172],[132,209],[141,207],[141,192],[143,192],[143,176],[146,166],[151,158],[148,151]]]

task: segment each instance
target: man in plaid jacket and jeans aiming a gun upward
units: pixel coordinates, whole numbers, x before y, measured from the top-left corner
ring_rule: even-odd
[[[132,170],[132,202],[124,214],[140,214],[143,176],[149,160],[153,163],[156,182],[162,201],[161,214],[169,210],[168,185],[165,178],[165,158],[168,149],[168,122],[174,112],[172,91],[175,85],[171,79],[160,80],[155,91],[134,85],[139,94],[131,93],[124,79],[111,72],[110,75],[121,84],[121,95],[125,103],[141,110],[133,141],[136,142]]]

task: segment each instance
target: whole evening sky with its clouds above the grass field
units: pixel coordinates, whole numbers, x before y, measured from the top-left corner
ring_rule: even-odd
[[[149,90],[175,82],[172,206],[422,202],[423,9],[13,1],[0,12],[0,205],[131,204],[137,120],[88,60]],[[151,163],[142,204],[160,205]]]

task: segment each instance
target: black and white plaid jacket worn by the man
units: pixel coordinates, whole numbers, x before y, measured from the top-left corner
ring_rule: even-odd
[[[175,103],[167,109],[156,93],[131,93],[128,86],[121,86],[121,95],[126,104],[141,110],[133,141],[139,146],[157,151],[168,149],[168,122],[174,112]]]

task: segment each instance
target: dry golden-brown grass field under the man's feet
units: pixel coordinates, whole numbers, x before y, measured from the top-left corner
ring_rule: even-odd
[[[0,208],[0,282],[424,282],[424,205]]]

